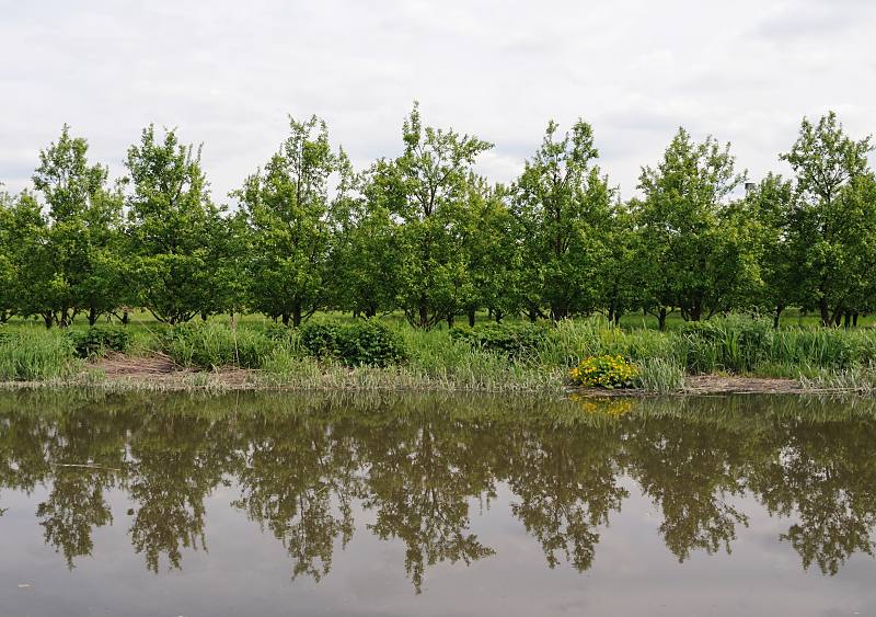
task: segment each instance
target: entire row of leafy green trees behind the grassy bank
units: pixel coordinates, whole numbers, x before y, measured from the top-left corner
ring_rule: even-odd
[[[680,128],[639,197],[622,201],[589,124],[551,122],[516,182],[475,172],[491,144],[424,126],[356,172],[324,122],[290,119],[279,150],[210,197],[200,149],[147,127],[111,183],[67,126],[33,191],[0,196],[0,321],[145,307],[168,323],[257,311],[298,325],[318,310],[404,311],[419,328],[479,310],[562,319],[644,311],[665,327],[786,307],[826,325],[876,308],[876,178],[869,137],[835,114],[781,155],[793,170],[746,182],[729,144]],[[741,191],[745,185],[745,192]]]

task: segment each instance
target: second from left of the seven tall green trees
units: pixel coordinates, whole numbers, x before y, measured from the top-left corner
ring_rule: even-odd
[[[209,221],[216,216],[200,165],[200,148],[180,142],[175,130],[155,136],[153,125],[126,160],[132,192],[127,197],[126,268],[136,297],[159,321],[191,320],[205,308],[209,287]]]

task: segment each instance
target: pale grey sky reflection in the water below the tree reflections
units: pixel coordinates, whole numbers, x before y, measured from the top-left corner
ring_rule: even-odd
[[[661,431],[653,435],[672,439],[672,434]],[[834,445],[841,446],[842,442]],[[669,460],[666,465],[676,464],[683,471],[683,461]],[[543,488],[550,493],[550,475],[546,478]],[[134,516],[127,511],[136,504],[128,501],[127,492],[106,491],[113,524],[92,530],[92,556],[76,558],[74,568],[68,571],[64,556],[45,544],[44,528],[35,516],[38,504],[48,499],[50,483],[47,488],[37,485],[30,494],[0,490],[0,507],[5,509],[0,517],[0,615],[876,612],[876,561],[858,552],[839,567],[837,575],[823,575],[817,564],[805,571],[800,555],[788,541],[780,541],[796,523],[796,512],[789,517],[770,516],[761,498],[748,490],[726,496],[723,502],[718,499],[723,505],[744,513],[748,521],[748,526],[735,526],[731,553],[728,556],[723,546],[714,555],[694,548],[680,563],[660,530],[665,523],[661,504],[655,504],[652,495],[643,495],[641,478],[635,472],[619,475],[614,487],[627,495],[621,501],[620,512],[609,513],[608,526],[590,529],[599,536],[592,567],[577,572],[562,550],[555,551],[557,567],[548,568],[542,546],[514,514],[512,504],[520,503],[520,495],[512,484],[505,479],[495,482],[496,494],[488,505],[486,500],[468,498],[469,532],[495,555],[469,567],[447,560],[425,565],[419,595],[405,572],[404,542],[397,538],[380,539],[372,530],[378,522],[376,509],[362,510],[359,499],[353,501],[351,540],[342,549],[339,536],[335,537],[331,572],[316,583],[307,575],[292,581],[290,556],[268,525],[262,532],[243,510],[231,506],[241,496],[237,481],[229,487],[218,485],[205,499],[207,550],[182,549],[180,570],[169,570],[166,556],[161,555],[158,574],[147,570],[145,556],[131,547],[129,529]],[[337,501],[333,499],[332,503],[336,509]],[[19,589],[20,584],[31,586]]]

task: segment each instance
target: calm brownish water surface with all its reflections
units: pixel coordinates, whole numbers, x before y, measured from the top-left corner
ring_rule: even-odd
[[[0,395],[0,616],[874,615],[876,401]]]

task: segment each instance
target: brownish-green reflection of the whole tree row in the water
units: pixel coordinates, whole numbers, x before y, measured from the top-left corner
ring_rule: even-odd
[[[549,565],[565,558],[583,571],[627,496],[623,473],[662,512],[660,535],[680,560],[729,551],[747,523],[731,499],[746,491],[796,518],[782,539],[805,568],[832,574],[855,552],[876,553],[872,408],[773,401],[752,413],[722,398],[681,413],[648,401],[644,413],[595,419],[574,404],[509,411],[436,399],[231,413],[223,398],[171,400],[178,404],[150,410],[135,397],[110,412],[104,403],[20,410],[0,397],[0,489],[46,487],[36,514],[68,565],[112,523],[106,493],[117,489],[131,501],[130,539],[147,567],[158,571],[163,555],[180,568],[184,549],[205,544],[205,499],[235,480],[233,504],[284,544],[293,576],[330,572],[359,501],[378,537],[404,544],[418,591],[429,565],[493,555],[471,532],[470,509],[488,506],[506,482]]]

